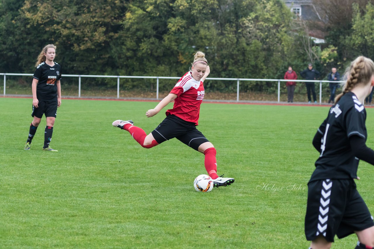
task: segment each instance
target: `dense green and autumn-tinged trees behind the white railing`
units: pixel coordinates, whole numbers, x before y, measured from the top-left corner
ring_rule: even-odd
[[[282,0],[0,0],[0,72],[33,72],[53,43],[62,74],[181,76],[197,50],[211,77],[282,78],[309,62],[327,73],[374,55],[373,5],[350,6],[352,18],[327,25],[327,44],[312,43],[310,57],[310,38]]]

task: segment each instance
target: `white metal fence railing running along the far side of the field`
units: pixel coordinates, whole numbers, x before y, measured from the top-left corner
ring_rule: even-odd
[[[6,75],[19,75],[19,76],[33,76],[33,74],[8,74],[4,75],[4,96],[6,96]],[[116,76],[116,75],[77,75],[77,74],[64,74],[63,77],[78,77],[78,97],[81,91],[81,78],[82,77],[95,77],[95,78],[117,78],[117,99],[119,99],[120,92],[120,78],[139,78],[139,79],[156,79],[156,99],[159,99],[159,79],[180,79],[180,77],[161,77],[161,76]],[[319,103],[322,103],[322,83],[343,83],[344,81],[327,81],[327,80],[274,80],[274,79],[249,79],[249,78],[206,78],[207,80],[229,80],[236,81],[236,101],[239,101],[239,84],[240,81],[265,81],[265,82],[278,82],[278,102],[280,102],[281,82],[294,81],[294,82],[316,82],[319,83]]]

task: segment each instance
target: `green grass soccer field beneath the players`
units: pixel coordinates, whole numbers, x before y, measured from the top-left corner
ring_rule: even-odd
[[[45,119],[25,151],[31,99],[0,98],[0,248],[308,248],[312,138],[328,107],[203,103],[197,127],[217,149],[228,187],[194,190],[204,156],[180,141],[143,149],[116,119],[147,133],[156,102],[62,100],[51,147]],[[171,104],[170,104],[171,106]],[[367,109],[374,147],[374,109]],[[374,214],[374,168],[358,190]],[[353,248],[351,235],[332,248]]]

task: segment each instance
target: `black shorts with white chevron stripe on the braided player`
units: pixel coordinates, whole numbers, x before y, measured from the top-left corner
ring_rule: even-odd
[[[353,179],[326,179],[308,183],[305,236],[315,240],[322,234],[334,242],[374,225],[373,217]]]

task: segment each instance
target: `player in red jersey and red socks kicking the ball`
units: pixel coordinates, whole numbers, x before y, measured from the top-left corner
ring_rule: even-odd
[[[166,118],[150,134],[134,126],[132,120],[113,122],[114,127],[128,131],[144,148],[154,147],[171,138],[177,138],[187,146],[205,155],[205,169],[213,179],[214,187],[227,186],[234,182],[233,178],[218,177],[216,150],[211,142],[196,129],[198,125],[200,105],[204,98],[203,82],[210,72],[208,61],[203,52],[197,51],[191,63],[191,71],[186,72],[177,82],[168,96],[154,108],[145,112],[148,118],[159,113],[174,100],[172,109],[166,111]]]

